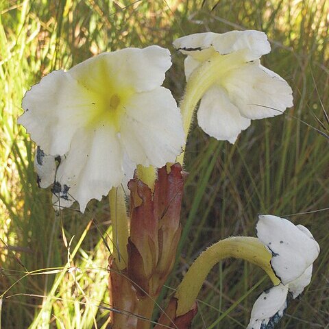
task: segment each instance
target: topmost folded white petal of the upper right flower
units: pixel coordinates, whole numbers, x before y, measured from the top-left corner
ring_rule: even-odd
[[[191,34],[176,39],[173,46],[199,60],[201,56],[206,60],[213,50],[221,55],[243,50],[245,62],[256,60],[271,51],[266,34],[254,30],[231,31],[223,34],[212,32]]]

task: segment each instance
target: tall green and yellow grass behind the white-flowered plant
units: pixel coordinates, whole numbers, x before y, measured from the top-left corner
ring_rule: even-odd
[[[183,56],[172,40],[232,29],[268,34],[272,52],[263,64],[289,82],[295,106],[253,121],[235,145],[195,126],[181,256],[159,302],[165,305],[202,249],[226,236],[254,235],[256,214],[271,213],[307,226],[321,246],[313,282],[278,328],[329,328],[328,210],[315,212],[329,204],[328,138],[313,129],[329,130],[328,12],[326,0],[0,0],[0,289],[14,284],[0,302],[2,328],[105,328],[109,308],[108,204],[55,217],[50,192],[36,186],[34,145],[16,125],[25,91],[53,69],[101,51],[158,44],[173,53],[165,84],[179,100]],[[74,266],[82,273],[62,271]],[[256,267],[226,260],[204,284],[193,328],[245,328],[269,285]]]

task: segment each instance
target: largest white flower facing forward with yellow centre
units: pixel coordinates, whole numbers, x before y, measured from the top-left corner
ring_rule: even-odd
[[[18,122],[40,147],[36,169],[42,187],[53,183],[58,205],[77,200],[84,211],[91,198],[132,178],[136,164],[175,161],[184,133],[175,100],[161,86],[170,66],[167,49],[122,49],[53,71],[26,93]]]

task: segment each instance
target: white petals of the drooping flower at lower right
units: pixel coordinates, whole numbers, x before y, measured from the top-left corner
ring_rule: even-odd
[[[271,267],[281,283],[258,297],[247,329],[271,329],[284,315],[288,294],[295,298],[310,283],[320,249],[307,228],[284,218],[260,215],[256,231],[272,254]]]

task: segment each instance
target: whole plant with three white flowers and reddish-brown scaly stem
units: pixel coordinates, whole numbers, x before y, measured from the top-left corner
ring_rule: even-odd
[[[37,182],[51,186],[56,210],[76,201],[84,212],[90,199],[108,195],[114,329],[150,328],[155,301],[173,269],[194,112],[204,132],[235,143],[252,119],[293,105],[287,82],[260,64],[271,49],[263,32],[193,34],[173,45],[187,56],[180,108],[161,86],[170,53],[150,46],[101,53],[69,71],[49,73],[27,91],[18,120],[37,145]],[[304,226],[280,217],[260,215],[256,229],[257,238],[230,237],[202,252],[156,328],[191,328],[208,272],[228,257],[268,274],[273,287],[256,300],[248,328],[273,328],[289,294],[297,297],[310,283],[319,245]]]

